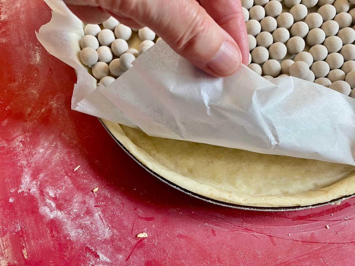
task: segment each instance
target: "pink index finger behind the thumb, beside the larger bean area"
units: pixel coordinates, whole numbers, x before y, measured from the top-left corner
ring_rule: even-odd
[[[240,0],[200,0],[207,13],[221,26],[238,44],[242,62],[249,61],[249,43],[244,15]]]

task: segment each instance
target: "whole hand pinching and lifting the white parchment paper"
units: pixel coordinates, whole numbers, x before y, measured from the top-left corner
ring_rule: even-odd
[[[249,48],[240,0],[64,0],[86,23],[114,16],[131,28],[147,26],[178,54],[219,77],[247,65]]]

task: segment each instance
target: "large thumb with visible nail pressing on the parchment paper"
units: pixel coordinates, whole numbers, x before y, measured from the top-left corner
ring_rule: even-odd
[[[97,0],[66,2],[98,6]],[[240,67],[242,56],[236,41],[195,0],[99,2],[103,9],[151,28],[178,54],[214,76],[229,76]]]

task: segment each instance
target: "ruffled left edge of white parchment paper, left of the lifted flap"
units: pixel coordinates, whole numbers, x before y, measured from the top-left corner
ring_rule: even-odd
[[[130,127],[135,124],[110,100],[100,93],[102,84],[88,72],[80,59],[80,40],[84,36],[83,23],[61,0],[44,0],[52,9],[50,22],[36,33],[37,39],[49,52],[76,69],[78,80],[74,85],[71,107],[73,110],[101,117]]]

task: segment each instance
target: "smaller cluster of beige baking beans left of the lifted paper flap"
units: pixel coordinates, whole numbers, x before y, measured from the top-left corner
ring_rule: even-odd
[[[135,31],[141,40],[139,50],[130,48],[127,43]],[[105,87],[129,70],[136,57],[151,48],[156,39],[151,29],[131,29],[113,17],[102,25],[87,24],[84,33],[80,41],[80,60]]]

